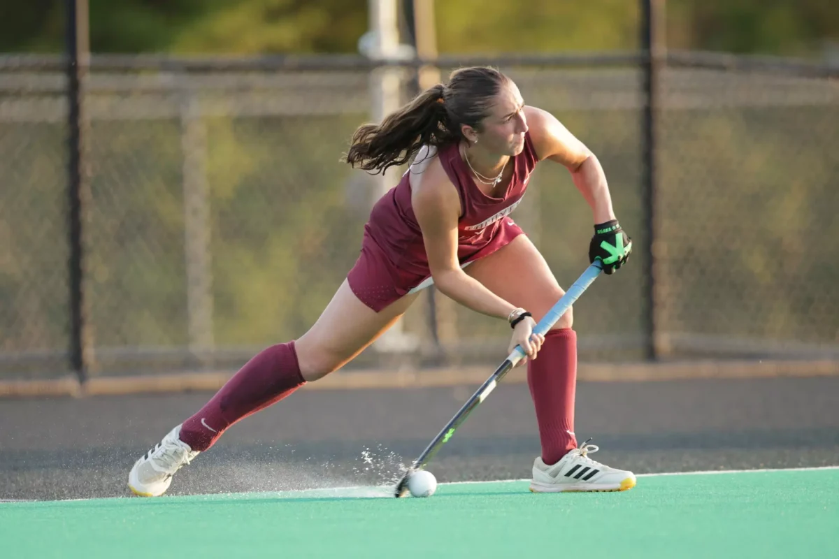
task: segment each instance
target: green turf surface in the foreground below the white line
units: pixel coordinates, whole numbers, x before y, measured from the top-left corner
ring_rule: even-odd
[[[4,557],[839,557],[839,469],[0,504]],[[381,497],[381,498],[376,498]]]

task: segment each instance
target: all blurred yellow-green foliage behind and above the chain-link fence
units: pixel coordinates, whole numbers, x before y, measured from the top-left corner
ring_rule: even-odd
[[[831,46],[839,44],[835,2],[670,0],[667,42],[824,60],[839,53]],[[63,6],[3,3],[0,51],[60,53]],[[436,2],[439,51],[638,48],[635,0],[522,6]],[[91,50],[126,54],[355,53],[368,25],[367,0],[90,0],[90,18]],[[529,103],[552,111],[598,154],[623,225],[643,241],[638,69],[504,70]],[[300,335],[352,267],[370,189],[340,157],[370,118],[367,74],[274,74],[200,73],[189,87],[185,76],[155,81],[154,72],[96,76],[84,285],[89,343],[102,349],[94,374],[148,372],[151,360],[174,369],[184,364],[164,357],[193,345],[186,268],[200,259],[185,248],[189,162],[203,162],[197,174],[206,185],[207,329],[211,344],[230,349],[216,365],[238,365],[254,348]],[[26,372],[21,355],[29,372],[55,374],[66,366],[69,322],[64,90],[60,75],[9,76],[0,95],[0,176],[11,185],[0,189],[0,357],[9,356],[0,377]],[[713,353],[732,339],[758,340],[761,352],[779,340],[834,348],[839,246],[813,240],[839,236],[835,86],[671,69],[662,88],[670,110],[658,121],[659,329],[693,344],[673,355]],[[204,111],[200,118],[187,116],[190,103]],[[202,139],[194,145],[195,135]],[[565,169],[538,174],[516,219],[567,281],[586,264],[591,214]],[[642,274],[628,267],[598,298],[579,303],[575,327],[593,340],[581,347],[584,359],[638,357]],[[493,337],[497,321],[445,310],[440,339],[498,357],[492,351],[506,342]],[[412,308],[406,331],[427,339],[427,316],[422,305]],[[146,357],[113,353],[125,348]]]

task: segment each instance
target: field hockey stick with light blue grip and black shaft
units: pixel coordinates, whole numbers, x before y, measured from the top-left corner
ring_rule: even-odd
[[[560,298],[559,301],[555,303],[555,305],[550,308],[545,317],[539,320],[539,323],[536,323],[536,327],[533,329],[534,334],[547,334],[548,330],[556,323],[560,317],[565,314],[571,305],[582,295],[582,292],[586,291],[586,289],[591,285],[591,282],[600,275],[602,272],[602,263],[601,261],[597,260],[594,261],[591,266],[586,269],[586,272],[583,272],[580,278],[574,282],[571,287],[568,288],[568,291],[565,292],[565,295]],[[519,363],[525,357],[524,349],[521,348],[520,345],[517,345],[513,352],[507,356],[507,359],[498,366],[498,369],[492,373],[480,388],[469,398],[468,401],[461,407],[460,411],[455,414],[455,417],[451,418],[451,421],[446,424],[446,427],[443,427],[443,430],[440,431],[437,436],[434,438],[433,441],[425,448],[422,454],[420,454],[420,458],[414,460],[414,463],[408,468],[408,471],[402,476],[402,479],[399,480],[399,484],[396,485],[396,490],[394,491],[394,496],[396,497],[404,497],[408,494],[408,478],[410,474],[413,474],[416,470],[425,467],[426,463],[429,463],[431,458],[434,457],[435,453],[437,453],[440,448],[449,442],[449,439],[452,435],[455,434],[457,427],[460,427],[461,423],[466,421],[466,417],[469,417],[469,414],[480,404],[482,401],[486,400],[487,396],[489,396],[490,392],[495,390],[495,387],[498,386],[498,382],[504,378],[507,373],[513,369],[513,367]]]

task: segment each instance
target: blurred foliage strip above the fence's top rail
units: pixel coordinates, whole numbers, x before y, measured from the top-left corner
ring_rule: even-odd
[[[61,0],[0,6],[0,51],[57,52]],[[107,53],[350,53],[367,0],[91,0],[91,49]],[[435,2],[440,52],[631,50],[638,2]],[[821,58],[839,42],[835,0],[670,0],[675,49]]]

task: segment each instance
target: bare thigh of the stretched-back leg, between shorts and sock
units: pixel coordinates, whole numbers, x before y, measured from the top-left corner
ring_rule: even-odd
[[[356,297],[345,279],[320,318],[294,342],[303,378],[317,380],[346,365],[390,328],[416,297],[405,295],[377,313]]]

